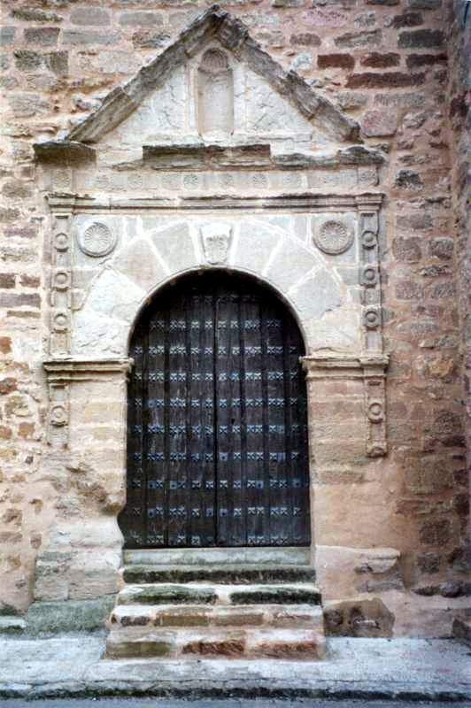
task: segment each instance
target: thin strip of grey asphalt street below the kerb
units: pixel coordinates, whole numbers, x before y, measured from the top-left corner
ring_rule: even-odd
[[[437,703],[370,700],[185,700],[166,698],[64,698],[26,701],[24,698],[0,700],[1,708],[471,708],[471,703]]]

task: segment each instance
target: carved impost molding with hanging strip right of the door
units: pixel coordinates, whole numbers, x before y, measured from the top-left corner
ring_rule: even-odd
[[[359,356],[326,354],[302,357],[306,380],[362,380],[367,419],[366,452],[369,458],[387,454],[385,378],[389,355],[366,352]]]

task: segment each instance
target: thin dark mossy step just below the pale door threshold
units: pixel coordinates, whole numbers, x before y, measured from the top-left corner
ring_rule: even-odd
[[[310,566],[125,566],[123,579],[128,583],[217,582],[232,585],[254,582],[314,582]]]

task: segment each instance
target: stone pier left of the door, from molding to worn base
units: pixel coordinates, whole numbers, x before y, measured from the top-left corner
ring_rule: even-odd
[[[36,559],[32,631],[103,626],[118,589],[125,502],[129,358],[43,362],[50,438],[42,475],[60,489]]]

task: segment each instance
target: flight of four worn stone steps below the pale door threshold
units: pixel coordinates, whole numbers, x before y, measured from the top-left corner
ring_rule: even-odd
[[[125,566],[107,658],[324,657],[310,566]]]

